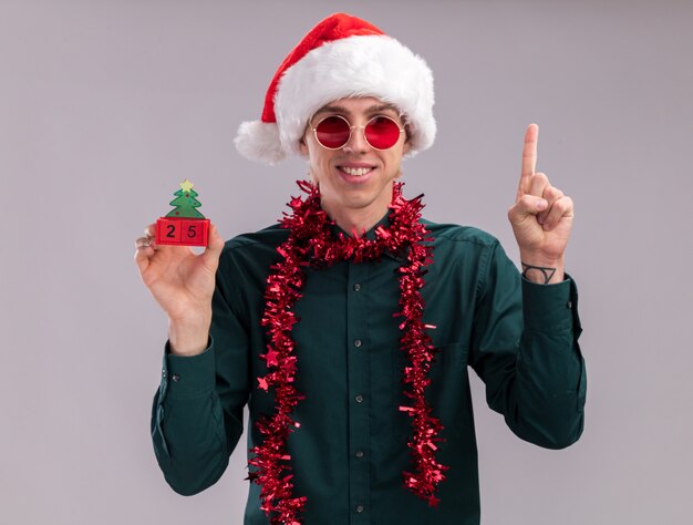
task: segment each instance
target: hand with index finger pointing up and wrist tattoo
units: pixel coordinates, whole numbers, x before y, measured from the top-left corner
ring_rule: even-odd
[[[565,251],[572,227],[572,199],[537,173],[539,126],[529,124],[523,148],[523,171],[515,204],[508,210],[528,279],[558,282],[563,279]]]

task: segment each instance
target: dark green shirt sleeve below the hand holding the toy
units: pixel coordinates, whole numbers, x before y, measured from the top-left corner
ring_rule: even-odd
[[[194,357],[164,354],[152,408],[152,440],[166,482],[192,495],[216,483],[242,434],[248,400],[248,337],[225,298],[213,299],[209,346]]]

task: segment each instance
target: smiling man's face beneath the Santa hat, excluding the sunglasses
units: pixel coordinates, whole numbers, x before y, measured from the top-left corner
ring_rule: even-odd
[[[301,144],[312,179],[320,187],[322,208],[338,222],[345,216],[377,222],[387,212],[402,155],[410,148],[406,133],[400,134],[394,146],[380,151],[365,141],[363,127],[354,128],[343,147],[328,150],[318,143],[312,127],[330,115],[343,116],[352,126],[365,126],[374,116],[383,115],[403,127],[402,119],[394,106],[374,97],[340,99],[312,116]]]

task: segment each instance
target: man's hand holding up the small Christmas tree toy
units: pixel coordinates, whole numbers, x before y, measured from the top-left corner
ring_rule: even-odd
[[[158,246],[155,224],[135,241],[135,262],[143,282],[168,316],[170,351],[195,356],[207,348],[211,325],[211,296],[224,239],[215,225],[203,254],[187,246]]]

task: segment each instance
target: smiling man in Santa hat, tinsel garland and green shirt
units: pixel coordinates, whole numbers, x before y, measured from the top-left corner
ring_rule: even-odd
[[[563,253],[573,207],[535,172],[525,136],[508,216],[524,277],[497,240],[421,219],[401,161],[435,136],[423,60],[346,14],[287,56],[246,156],[296,153],[308,194],[281,225],[201,255],[137,240],[169,318],[152,435],[170,486],[224,473],[250,411],[245,524],[478,524],[467,367],[518,436],[560,449],[582,431],[580,325]]]

